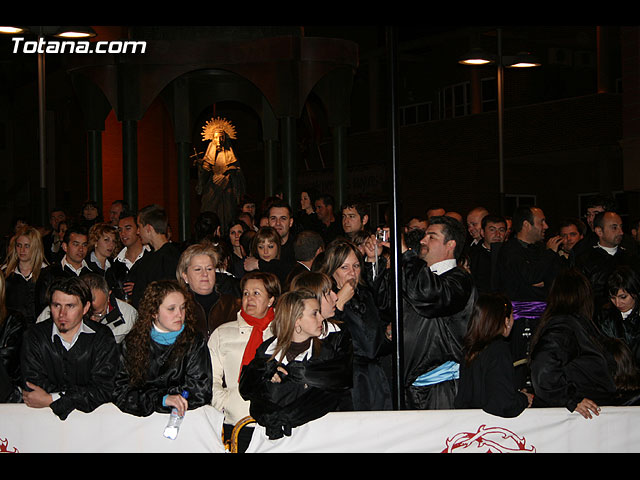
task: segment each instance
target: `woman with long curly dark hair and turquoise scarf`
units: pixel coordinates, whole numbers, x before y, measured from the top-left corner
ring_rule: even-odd
[[[149,284],[123,342],[114,403],[125,413],[180,415],[211,403],[211,358],[191,296],[175,280]],[[189,398],[181,392],[189,392]]]

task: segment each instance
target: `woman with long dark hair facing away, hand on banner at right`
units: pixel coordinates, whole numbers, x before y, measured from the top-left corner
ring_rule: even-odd
[[[615,404],[612,358],[593,322],[593,293],[576,269],[560,272],[531,344],[534,406],[566,407],[585,418]]]

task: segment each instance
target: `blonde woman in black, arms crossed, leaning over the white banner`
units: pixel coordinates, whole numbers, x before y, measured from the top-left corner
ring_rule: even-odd
[[[353,382],[348,333],[327,334],[316,294],[292,290],[280,297],[266,340],[240,378],[250,413],[278,439],[293,428],[339,409]]]

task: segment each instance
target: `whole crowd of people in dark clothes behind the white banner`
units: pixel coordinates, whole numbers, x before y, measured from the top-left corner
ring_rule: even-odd
[[[183,242],[159,205],[116,201],[108,220],[95,202],[56,208],[6,239],[0,401],[61,420],[109,402],[137,416],[213,405],[227,437],[251,416],[270,438],[390,410],[399,285],[404,408],[636,405],[638,225],[625,233],[606,199],[585,220],[547,235],[537,206],[429,208],[396,236],[395,272],[389,225],[311,190],[294,206],[245,197],[228,225],[203,212]]]

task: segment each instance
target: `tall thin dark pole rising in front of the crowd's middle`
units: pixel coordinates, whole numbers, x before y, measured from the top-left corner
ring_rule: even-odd
[[[395,36],[395,29],[393,27],[387,28],[387,50],[389,53],[389,85],[390,85],[390,125],[389,132],[391,137],[391,183],[392,183],[392,195],[393,201],[390,225],[391,231],[391,245],[395,248],[391,250],[392,253],[392,271],[394,275],[391,276],[392,281],[392,293],[393,293],[393,305],[395,318],[392,325],[393,340],[395,347],[395,357],[393,363],[394,373],[394,409],[404,410],[404,355],[403,355],[403,328],[402,328],[402,302],[400,292],[402,291],[402,285],[400,282],[400,256],[401,256],[401,238],[400,238],[400,221],[398,215],[398,105],[397,105],[397,76],[398,76],[398,64],[397,64],[397,40]]]

